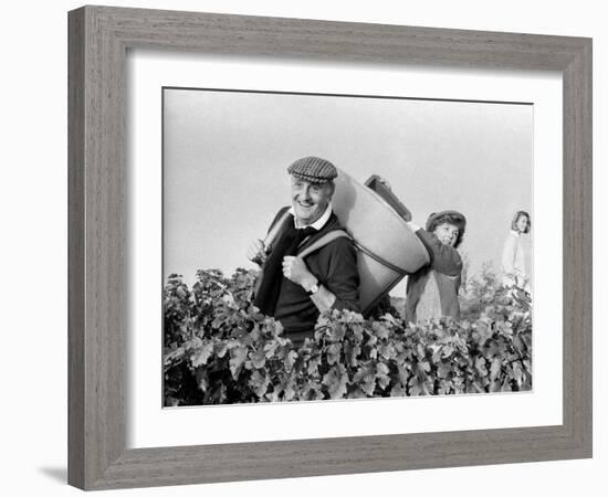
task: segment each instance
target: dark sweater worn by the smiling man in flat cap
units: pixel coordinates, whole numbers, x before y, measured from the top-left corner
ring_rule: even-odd
[[[273,224],[286,209],[289,208],[284,208],[279,212]],[[293,216],[289,218],[289,222],[293,223]],[[332,213],[325,225],[317,233],[311,235],[300,246],[298,252],[315,243],[321,236],[335,230],[343,230],[343,228],[336,215]],[[319,285],[323,285],[336,296],[333,308],[360,310],[357,253],[350,240],[346,237],[336,239],[308,254],[304,258],[304,262],[308,271],[318,279]],[[277,283],[281,285],[281,292],[274,318],[281,321],[286,334],[310,331],[312,335],[319,311],[311,299],[311,296],[301,285],[284,276]]]

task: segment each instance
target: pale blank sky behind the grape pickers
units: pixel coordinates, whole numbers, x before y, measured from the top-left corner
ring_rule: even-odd
[[[165,281],[253,267],[245,250],[290,204],[286,168],[304,156],[361,182],[380,175],[421,225],[431,212],[464,213],[460,250],[472,274],[486,261],[497,269],[513,214],[532,214],[532,105],[207,89],[164,97]],[[391,294],[405,296],[402,285]]]

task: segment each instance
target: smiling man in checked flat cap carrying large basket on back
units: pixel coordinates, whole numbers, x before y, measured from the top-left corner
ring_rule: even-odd
[[[287,172],[292,205],[281,209],[272,222],[272,242],[255,240],[247,256],[262,266],[254,305],[281,321],[286,336],[301,345],[313,336],[321,311],[359,311],[359,274],[356,250],[350,239],[339,235],[344,229],[332,212],[334,165],[304,157]],[[317,248],[298,255],[311,246]]]

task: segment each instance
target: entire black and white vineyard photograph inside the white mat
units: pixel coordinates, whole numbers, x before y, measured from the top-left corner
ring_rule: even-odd
[[[163,405],[531,391],[533,121],[164,87]]]

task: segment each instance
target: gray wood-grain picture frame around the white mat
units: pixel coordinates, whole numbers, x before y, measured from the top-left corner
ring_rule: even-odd
[[[84,489],[591,456],[591,40],[84,7],[69,14],[69,483]],[[564,423],[125,448],[125,56],[129,47],[559,71]]]

